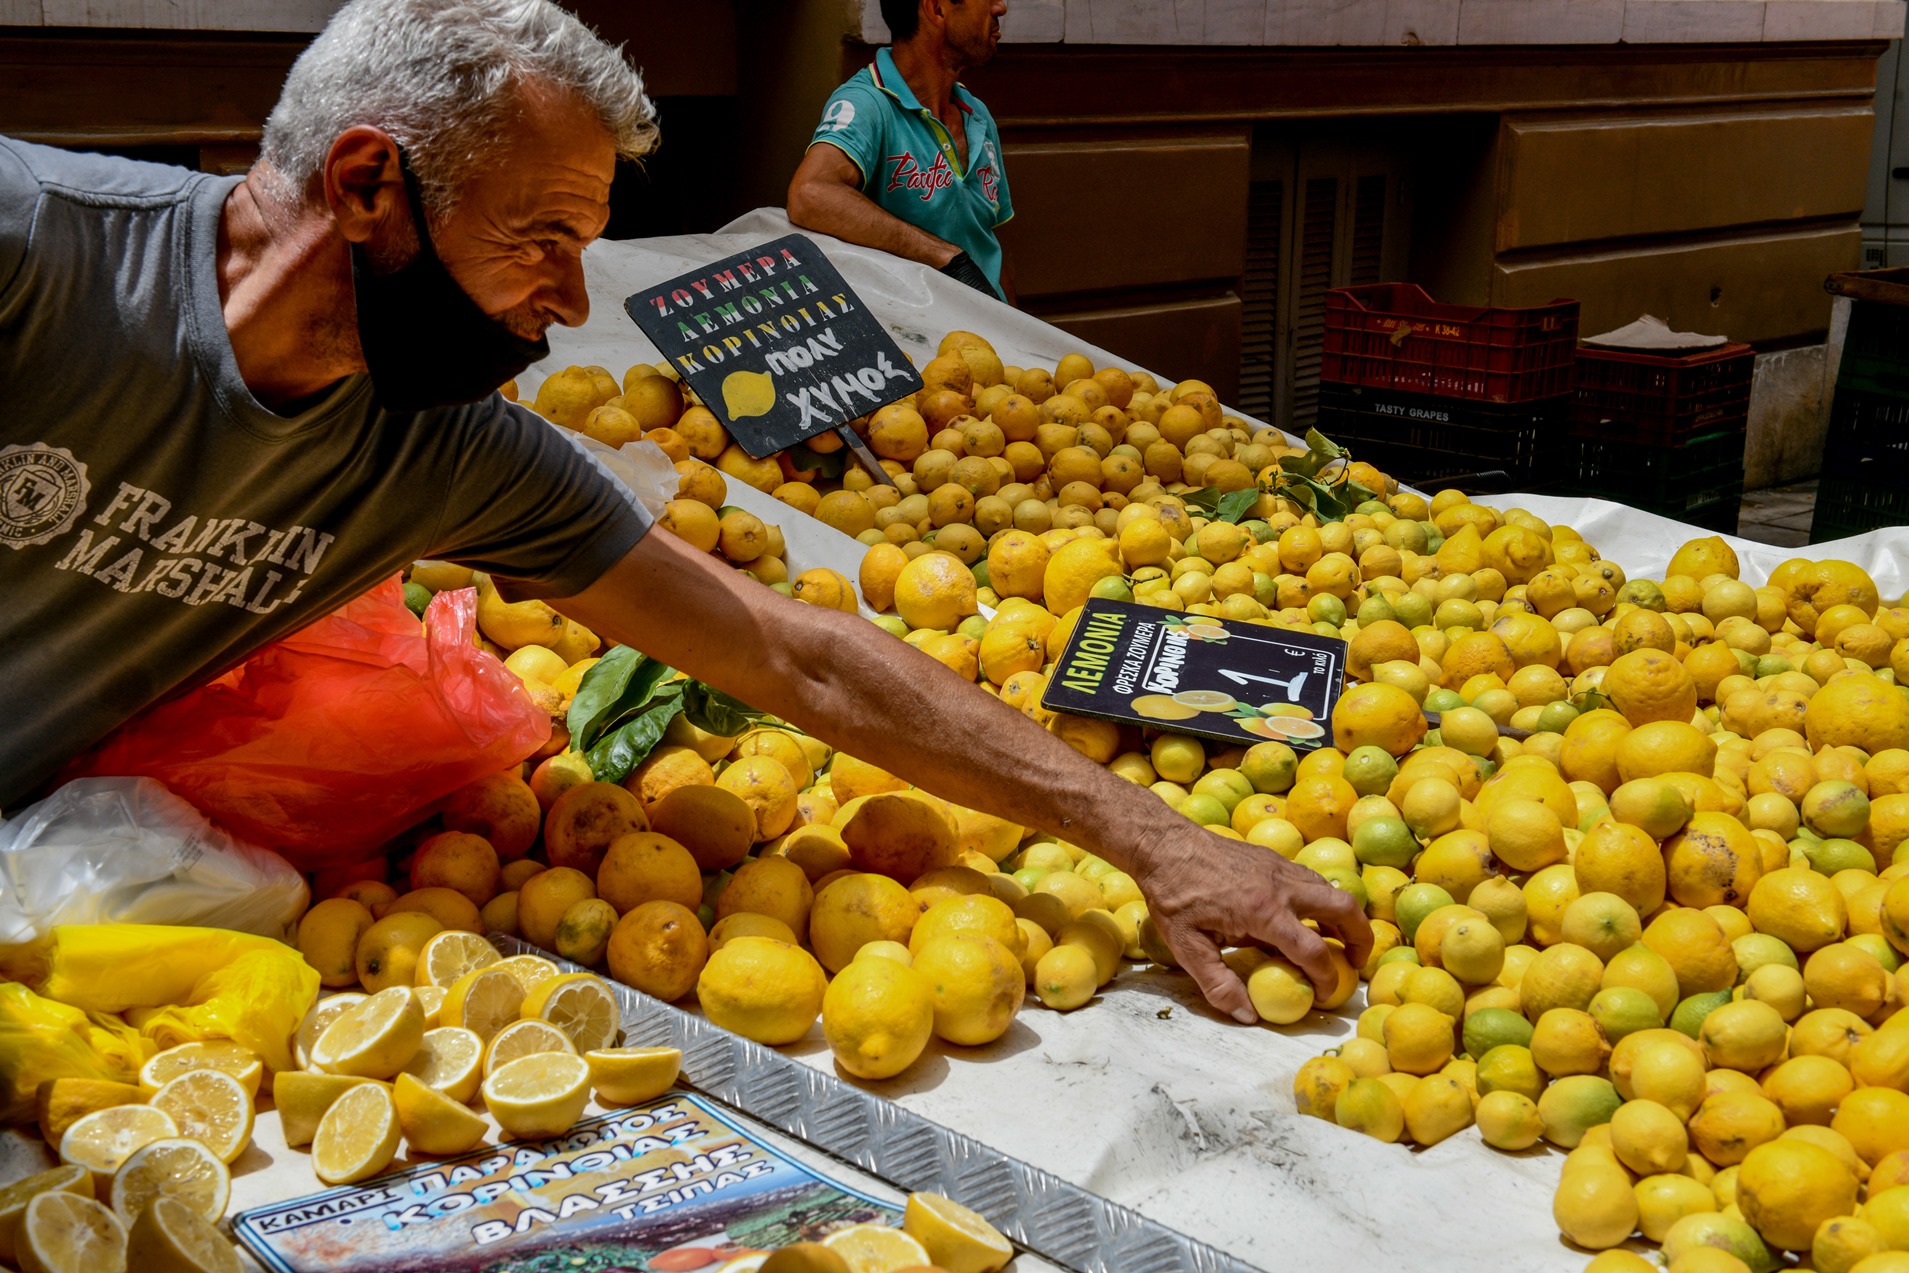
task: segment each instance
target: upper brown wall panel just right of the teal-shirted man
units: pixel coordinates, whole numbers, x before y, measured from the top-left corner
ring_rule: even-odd
[[[1247,252],[1245,130],[1229,137],[1006,145],[1002,242],[1021,296],[1237,279]]]

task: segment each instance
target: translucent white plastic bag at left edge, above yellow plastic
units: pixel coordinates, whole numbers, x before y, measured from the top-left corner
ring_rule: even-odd
[[[0,945],[55,924],[195,924],[284,939],[305,878],[153,779],[76,779],[0,824]]]

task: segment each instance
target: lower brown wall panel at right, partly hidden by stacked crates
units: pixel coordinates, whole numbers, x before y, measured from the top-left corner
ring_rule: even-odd
[[[1500,261],[1495,305],[1584,302],[1579,332],[1594,336],[1653,313],[1684,332],[1731,340],[1794,340],[1829,328],[1823,279],[1856,269],[1856,225],[1756,235],[1655,250]]]

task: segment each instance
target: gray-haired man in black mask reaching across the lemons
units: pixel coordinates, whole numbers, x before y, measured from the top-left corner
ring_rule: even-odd
[[[622,55],[548,0],[351,0],[244,179],[0,137],[0,807],[82,748],[418,557],[949,800],[1130,870],[1214,1006],[1220,941],[1321,987],[1352,895],[1214,836],[853,615],[651,521],[496,387],[590,311],[619,157],[655,145]]]

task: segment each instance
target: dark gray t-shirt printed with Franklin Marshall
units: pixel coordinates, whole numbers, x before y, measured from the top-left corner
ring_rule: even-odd
[[[498,395],[262,407],[218,288],[235,183],[0,137],[0,807],[418,557],[561,597],[649,529]]]

